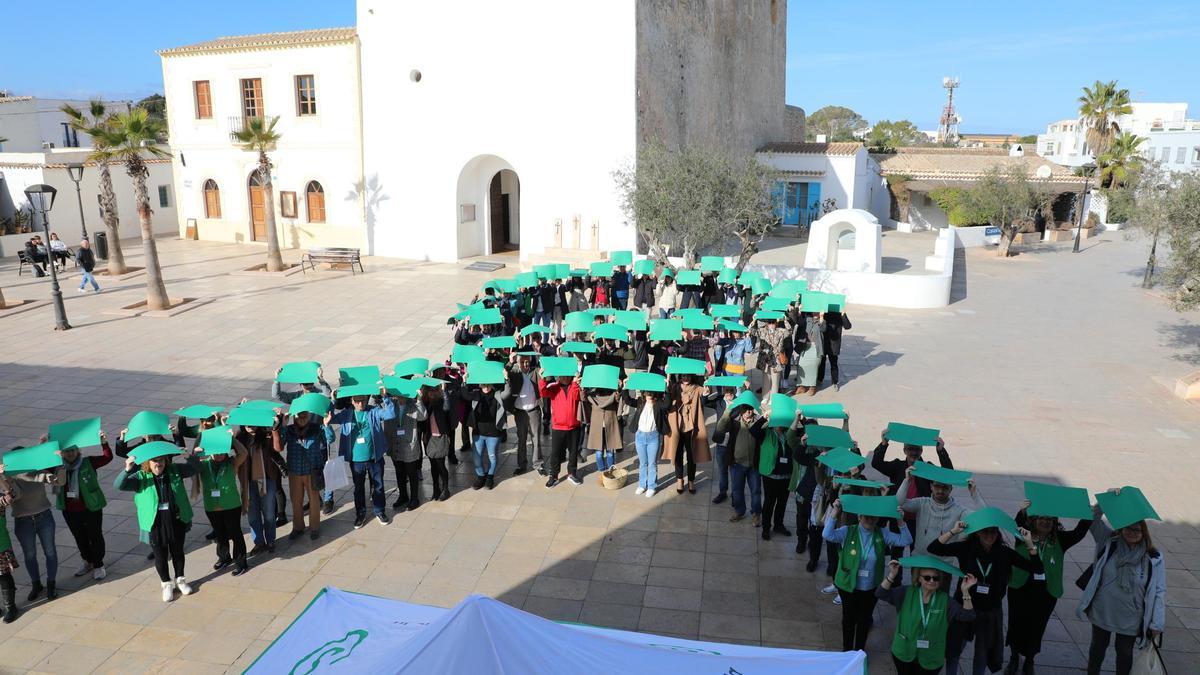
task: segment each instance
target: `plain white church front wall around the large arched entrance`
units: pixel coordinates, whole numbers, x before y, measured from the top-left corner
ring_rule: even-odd
[[[360,2],[364,165],[374,252],[454,261],[488,249],[487,181],[521,181],[522,256],[574,214],[632,249],[611,172],[636,141],[634,0]],[[409,73],[420,71],[421,80]],[[458,204],[476,221],[458,223]]]

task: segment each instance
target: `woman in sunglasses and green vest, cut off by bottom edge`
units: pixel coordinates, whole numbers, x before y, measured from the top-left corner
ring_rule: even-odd
[[[918,556],[913,556],[918,557]],[[911,558],[910,558],[911,560]],[[896,634],[892,639],[892,663],[898,675],[936,675],[946,664],[946,634],[958,621],[974,621],[971,589],[974,574],[959,581],[959,604],[942,587],[948,577],[937,561],[912,567],[911,586],[900,583],[900,561],[888,561],[887,579],[875,590],[875,597],[896,608]]]

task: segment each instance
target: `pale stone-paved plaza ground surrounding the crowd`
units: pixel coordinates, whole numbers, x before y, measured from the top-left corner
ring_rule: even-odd
[[[139,245],[128,243],[126,253],[140,263]],[[1178,315],[1139,287],[1145,253],[1144,241],[1120,233],[1086,241],[1079,255],[1069,245],[1007,261],[967,252],[948,307],[851,305],[841,392],[814,400],[845,404],[864,452],[889,420],[941,429],[955,465],[976,472],[985,500],[1008,510],[1027,478],[1093,491],[1141,486],[1165,519],[1152,528],[1169,568],[1164,657],[1172,673],[1195,673],[1200,406],[1170,388],[1200,369],[1200,315]],[[455,301],[490,277],[461,264],[367,258],[366,274],[262,279],[229,274],[263,262],[260,247],[162,239],[160,255],[173,298],[214,300],[170,318],[114,316],[106,310],[144,298],[143,280],[77,294],[71,274],[64,287],[73,330],[54,333],[49,306],[0,318],[0,447],[29,444],[48,424],[85,416],[102,416],[115,438],[139,410],[268,398],[275,369],[289,360],[319,360],[334,380],[337,366],[386,371],[408,357],[440,359]],[[14,259],[0,264],[0,285],[10,301],[49,294],[47,281],[18,276]],[[892,453],[900,456],[895,446]],[[620,459],[636,461],[630,452]],[[469,462],[461,464],[449,501],[359,531],[342,491],[319,540],[283,538],[240,578],[211,572],[216,555],[200,515],[187,556],[197,592],[170,604],[137,540],[128,494],[108,489],[109,577],[72,578],[80,562],[59,520],[62,593],[26,605],[29,578],[14,573],[25,611],[0,625],[0,673],[238,673],[328,585],[443,607],[485,593],[560,621],[839,649],[840,608],[818,591],[827,578],[804,571],[794,538],[763,542],[749,519],[728,522],[728,503],[709,501],[708,465],[698,494],[668,488],[650,500],[632,486],[604,490],[590,462],[584,485],[552,490],[535,473],[512,477],[514,466],[509,448],[496,489],[474,491]],[[102,470],[102,482],[110,485],[118,470],[119,461]],[[667,471],[659,466],[660,476]],[[428,473],[424,485],[427,497]],[[1087,542],[1070,551],[1069,580],[1091,554]],[[1075,619],[1079,591],[1066,586],[1039,673],[1078,673],[1085,663],[1090,626]],[[894,611],[881,605],[876,617],[870,671],[890,673]]]

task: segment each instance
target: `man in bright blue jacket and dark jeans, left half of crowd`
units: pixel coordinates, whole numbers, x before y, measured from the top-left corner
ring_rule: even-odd
[[[383,500],[383,458],[388,452],[384,420],[396,418],[396,406],[386,390],[379,389],[379,405],[371,405],[370,396],[350,396],[350,407],[330,413],[326,436],[332,442],[332,426],[337,425],[341,440],[337,454],[349,462],[354,477],[354,528],[367,522],[365,480],[371,478],[371,506],[379,522],[388,525],[386,506]]]

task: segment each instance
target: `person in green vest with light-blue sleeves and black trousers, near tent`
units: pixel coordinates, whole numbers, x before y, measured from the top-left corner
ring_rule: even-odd
[[[841,651],[851,651],[866,646],[866,633],[878,601],[875,589],[883,583],[883,558],[888,548],[907,546],[912,543],[912,534],[904,527],[899,534],[881,527],[881,518],[866,513],[859,514],[858,525],[836,527],[841,503],[839,498],[829,507],[821,536],[826,542],[841,546],[833,584],[841,598]],[[896,510],[900,510],[899,507]]]

